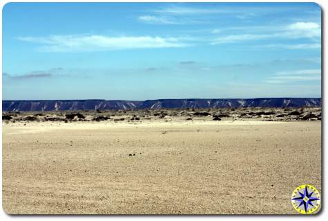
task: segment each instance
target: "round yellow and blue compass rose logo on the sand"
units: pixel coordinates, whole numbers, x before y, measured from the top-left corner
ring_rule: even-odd
[[[299,213],[313,213],[319,208],[320,193],[312,185],[300,185],[291,194],[291,204]]]

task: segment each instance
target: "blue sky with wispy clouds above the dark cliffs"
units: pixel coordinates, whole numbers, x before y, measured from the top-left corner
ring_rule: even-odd
[[[321,97],[315,3],[8,3],[3,99]]]

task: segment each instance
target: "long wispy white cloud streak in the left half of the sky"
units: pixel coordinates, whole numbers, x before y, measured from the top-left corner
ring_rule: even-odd
[[[182,39],[160,36],[52,35],[48,37],[25,36],[18,39],[38,43],[41,45],[39,50],[45,52],[91,52],[189,46]]]

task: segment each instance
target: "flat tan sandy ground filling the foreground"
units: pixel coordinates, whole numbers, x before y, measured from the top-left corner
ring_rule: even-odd
[[[321,122],[3,123],[7,213],[296,213]]]

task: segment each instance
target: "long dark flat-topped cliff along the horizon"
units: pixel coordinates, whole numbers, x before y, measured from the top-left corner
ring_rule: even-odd
[[[3,112],[84,109],[170,109],[224,107],[320,107],[321,98],[160,99],[148,101],[2,101]]]

